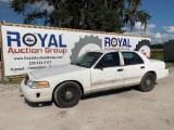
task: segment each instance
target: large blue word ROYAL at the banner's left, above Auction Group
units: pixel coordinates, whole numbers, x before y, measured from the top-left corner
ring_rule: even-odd
[[[62,42],[62,35],[49,35],[49,34],[25,34],[22,36],[17,31],[7,31],[8,47],[22,47],[22,43],[26,47],[34,47],[39,44],[41,48],[66,48],[66,44]],[[22,40],[21,40],[22,39]],[[13,46],[12,46],[13,44]]]

